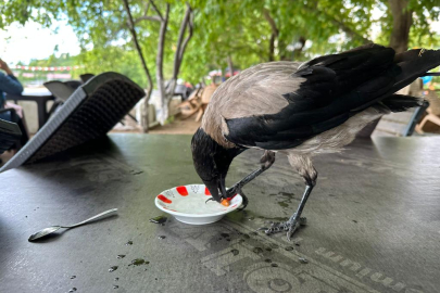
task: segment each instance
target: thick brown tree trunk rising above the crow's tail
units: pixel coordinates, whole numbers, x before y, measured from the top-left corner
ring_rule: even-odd
[[[408,49],[413,12],[407,10],[408,0],[388,0],[388,3],[392,14],[390,47],[401,53]]]

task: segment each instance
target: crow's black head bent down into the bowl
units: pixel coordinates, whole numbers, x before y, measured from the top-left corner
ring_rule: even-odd
[[[203,183],[217,202],[226,198],[225,178],[234,157],[242,150],[226,149],[199,128],[191,141],[192,161]]]

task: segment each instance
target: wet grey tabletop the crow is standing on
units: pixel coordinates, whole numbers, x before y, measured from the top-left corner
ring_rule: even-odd
[[[289,217],[302,194],[282,156],[244,188],[246,212],[209,226],[171,217],[165,226],[149,222],[163,214],[153,203],[161,191],[200,182],[189,142],[190,136],[111,135],[1,174],[0,291],[440,291],[439,139],[377,138],[316,157],[307,225],[292,242],[255,232]],[[237,157],[228,183],[255,169],[260,155]],[[113,207],[117,216],[27,241],[41,228]]]

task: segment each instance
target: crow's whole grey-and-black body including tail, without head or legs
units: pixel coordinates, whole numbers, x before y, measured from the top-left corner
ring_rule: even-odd
[[[419,105],[417,99],[393,93],[438,65],[440,51],[395,55],[391,48],[378,44],[301,65],[260,64],[215,91],[202,128],[227,149],[274,151],[307,145],[309,150],[335,151],[370,119]]]

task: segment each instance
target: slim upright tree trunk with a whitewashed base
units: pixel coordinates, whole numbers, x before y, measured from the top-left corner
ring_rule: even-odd
[[[166,35],[166,27],[168,25],[168,15],[169,15],[169,4],[166,4],[166,12],[165,16],[161,20],[161,28],[159,30],[159,43],[158,43],[158,54],[155,58],[155,66],[156,66],[156,81],[158,81],[158,90],[159,95],[161,97],[161,109],[158,110],[158,119],[161,125],[163,125],[168,117],[168,103],[167,103],[167,94],[165,91],[165,81],[163,79],[163,53],[165,47],[165,35]]]

